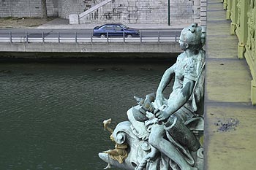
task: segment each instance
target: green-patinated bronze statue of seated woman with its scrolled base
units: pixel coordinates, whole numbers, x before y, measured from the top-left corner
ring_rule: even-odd
[[[156,95],[135,97],[138,105],[127,111],[129,121],[113,131],[116,143],[129,145],[127,158],[119,165],[110,164],[136,170],[203,170],[205,38],[204,28],[196,23],[181,31],[184,53],[165,71]],[[165,98],[163,92],[172,79],[172,92]]]

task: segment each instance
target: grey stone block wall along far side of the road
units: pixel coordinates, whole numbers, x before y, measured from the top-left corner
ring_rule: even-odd
[[[47,0],[48,16],[69,19],[103,0]],[[167,23],[167,0],[113,0],[80,23]],[[0,18],[42,15],[41,0],[0,0]],[[170,23],[200,22],[200,0],[170,0]]]

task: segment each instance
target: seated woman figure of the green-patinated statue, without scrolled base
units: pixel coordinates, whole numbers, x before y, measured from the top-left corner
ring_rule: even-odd
[[[189,151],[196,151],[200,147],[184,123],[197,117],[200,101],[203,100],[203,76],[200,75],[203,74],[205,62],[204,42],[205,33],[196,23],[181,31],[179,43],[184,53],[178,55],[176,63],[163,74],[154,101],[154,108],[159,110],[155,112],[158,123],[152,126],[148,137],[153,147],[150,158],[154,160],[157,153],[162,152],[181,170],[196,168],[193,161],[176,149],[177,143]],[[173,91],[165,99],[163,91],[173,77]]]

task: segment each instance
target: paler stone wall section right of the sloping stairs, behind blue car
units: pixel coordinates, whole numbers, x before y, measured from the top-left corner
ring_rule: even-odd
[[[85,1],[85,10],[100,1]],[[113,0],[80,18],[80,23],[167,23],[167,7],[167,0]],[[200,22],[200,0],[170,0],[170,22]]]

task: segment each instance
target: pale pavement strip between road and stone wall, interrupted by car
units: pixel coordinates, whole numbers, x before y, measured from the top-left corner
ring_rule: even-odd
[[[168,26],[167,23],[161,24],[131,24],[131,23],[124,23],[124,25],[130,28],[138,28],[138,29],[177,29],[177,28],[184,28],[189,26],[191,23],[171,23]],[[69,20],[56,18],[54,20],[50,20],[48,23],[45,23],[41,26],[38,26],[39,29],[92,29],[95,26],[101,26],[102,24],[90,24],[90,23],[83,23],[83,24],[69,24]]]

